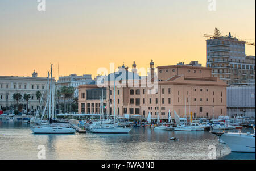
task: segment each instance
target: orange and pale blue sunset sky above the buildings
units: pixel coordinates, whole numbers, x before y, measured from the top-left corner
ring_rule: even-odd
[[[255,0],[37,0],[0,1],[0,76],[96,76],[123,62],[131,67],[199,61],[206,64],[206,37],[255,42]],[[214,9],[214,8],[211,8]],[[246,55],[255,46],[246,45]]]

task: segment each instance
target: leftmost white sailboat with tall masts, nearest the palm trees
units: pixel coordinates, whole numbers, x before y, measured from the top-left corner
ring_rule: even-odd
[[[44,111],[42,114],[42,118],[44,116],[44,112],[46,111],[46,107],[48,108],[48,124],[41,124],[40,126],[32,126],[31,130],[34,134],[73,134],[76,130],[71,127],[61,127],[61,126],[51,126],[51,118],[54,115],[54,90],[55,84],[52,83],[52,65],[51,65],[51,81],[49,82],[49,73],[48,73],[48,85],[47,85],[47,105],[44,107]],[[42,101],[42,98],[41,98]],[[40,103],[41,103],[40,101]],[[38,111],[36,112],[36,117],[39,115],[40,104],[38,107]],[[53,116],[54,117],[54,116]]]

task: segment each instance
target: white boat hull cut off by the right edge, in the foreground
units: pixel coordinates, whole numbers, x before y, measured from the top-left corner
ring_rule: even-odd
[[[220,137],[232,152],[253,152],[255,153],[255,135],[224,133]]]

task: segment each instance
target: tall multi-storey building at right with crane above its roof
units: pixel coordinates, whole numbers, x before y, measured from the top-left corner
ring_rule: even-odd
[[[245,43],[229,36],[208,39],[207,67],[212,76],[224,80],[228,85],[255,84],[255,56],[246,56]]]

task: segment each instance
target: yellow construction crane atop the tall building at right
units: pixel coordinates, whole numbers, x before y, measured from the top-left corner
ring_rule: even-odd
[[[221,32],[220,32],[220,30],[218,30],[218,28],[215,28],[214,36],[208,35],[208,34],[204,34],[204,37],[208,37],[210,39],[227,40],[227,41],[232,41],[232,42],[236,42],[236,43],[243,43],[243,44],[254,45],[255,46],[255,43],[250,43],[250,42],[247,42],[247,41],[242,40],[242,39],[241,40],[230,39],[230,38],[232,38],[230,33],[229,33],[229,36],[224,37],[224,36],[221,35]]]

